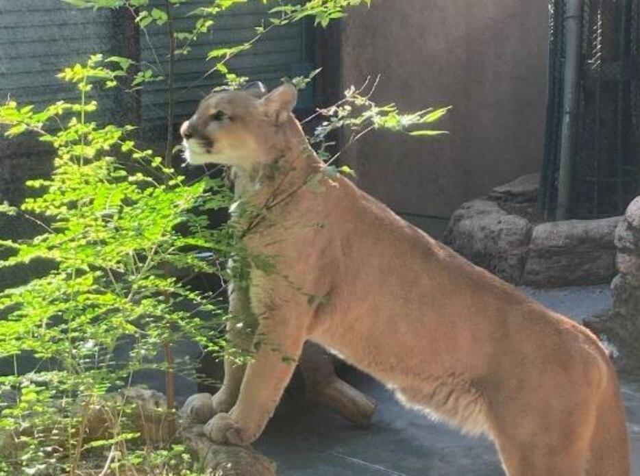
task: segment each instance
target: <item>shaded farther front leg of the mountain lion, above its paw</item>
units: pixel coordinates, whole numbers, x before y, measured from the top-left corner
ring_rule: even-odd
[[[251,311],[247,286],[230,286],[229,311],[232,317],[227,323],[227,340],[232,345],[232,350],[239,353],[251,352],[258,319]],[[247,368],[246,364],[239,364],[233,356],[225,358],[224,365],[225,377],[222,387],[213,396],[213,408],[216,413],[228,412],[236,404]]]

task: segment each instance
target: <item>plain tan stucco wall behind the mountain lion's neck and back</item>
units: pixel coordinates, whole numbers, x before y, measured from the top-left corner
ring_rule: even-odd
[[[448,216],[542,160],[547,0],[373,0],[341,28],[342,86],[382,75],[374,98],[453,105],[441,138],[376,132],[347,153],[360,186],[397,212]]]

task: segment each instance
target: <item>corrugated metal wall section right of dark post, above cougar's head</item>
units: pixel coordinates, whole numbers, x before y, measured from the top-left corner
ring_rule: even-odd
[[[162,4],[156,1],[158,6]],[[197,6],[210,2],[196,0],[175,8],[177,31],[189,31],[193,25],[193,16],[188,12]],[[254,27],[267,16],[270,6],[260,1],[249,1],[224,12],[212,30],[198,38],[191,46],[187,56],[179,56],[175,65],[176,117],[184,118],[193,113],[195,104],[208,94],[213,86],[221,82],[217,74],[204,77],[212,68],[214,61],[205,62],[207,53],[217,47],[237,45],[256,36]],[[166,71],[166,58],[169,51],[167,34],[162,27],[150,27],[149,41],[143,35],[141,39],[142,60],[156,66],[158,60]],[[154,53],[155,51],[155,53]],[[234,73],[247,76],[253,81],[262,81],[273,86],[282,77],[291,77],[308,73],[312,64],[308,63],[308,45],[306,44],[303,23],[295,23],[271,30],[246,53],[236,56],[228,63]],[[167,110],[167,88],[162,83],[149,84],[143,91],[142,116],[147,125],[162,123]]]

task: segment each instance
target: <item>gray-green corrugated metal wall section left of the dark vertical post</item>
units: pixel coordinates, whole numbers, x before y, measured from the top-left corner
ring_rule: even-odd
[[[56,74],[111,49],[113,36],[110,12],[77,10],[60,0],[0,0],[0,101],[11,97],[39,107],[75,99],[73,85]],[[110,116],[114,101],[101,103],[103,116]],[[24,181],[50,168],[51,152],[35,138],[0,136],[0,201],[20,201]]]

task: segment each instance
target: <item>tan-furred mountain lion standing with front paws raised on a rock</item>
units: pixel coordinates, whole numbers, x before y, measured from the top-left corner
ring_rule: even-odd
[[[509,476],[628,475],[624,408],[598,340],[348,179],[317,175],[322,164],[290,114],[293,103],[290,86],[262,99],[213,95],[183,127],[192,136],[203,111],[230,114],[229,123],[197,131],[214,144],[204,158],[232,164],[243,203],[266,211],[244,243],[278,268],[251,271],[247,314],[268,345],[244,375],[236,368],[225,379],[209,436],[258,438],[293,372],[283,355],[297,358],[310,339],[406,405],[491,438]]]

